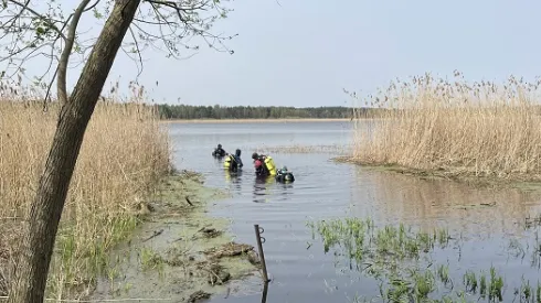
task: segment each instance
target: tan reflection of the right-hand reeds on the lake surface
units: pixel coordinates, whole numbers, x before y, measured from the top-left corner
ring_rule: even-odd
[[[424,230],[443,224],[464,235],[516,234],[528,214],[540,208],[539,193],[356,170],[352,213],[376,223],[402,221]]]

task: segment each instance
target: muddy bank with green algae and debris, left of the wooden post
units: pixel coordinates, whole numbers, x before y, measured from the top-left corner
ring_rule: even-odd
[[[209,203],[227,196],[205,187],[199,174],[168,176],[153,201],[141,204],[144,224],[112,251],[89,299],[195,302],[231,293],[232,282],[257,273],[258,257],[233,241],[226,219],[205,214]]]

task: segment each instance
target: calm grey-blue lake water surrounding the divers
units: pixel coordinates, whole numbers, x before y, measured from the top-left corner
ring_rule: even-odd
[[[462,237],[459,245],[432,255],[434,263],[449,264],[455,285],[463,284],[466,270],[488,271],[492,266],[505,279],[506,302],[513,299],[522,278],[537,288],[539,268],[532,261],[539,258],[534,250],[539,244],[535,229],[524,229],[524,219],[540,213],[539,194],[371,171],[336,163],[330,152],[269,153],[277,166],[287,165],[294,172],[295,183],[255,178],[251,154],[256,149],[350,144],[351,122],[171,123],[169,128],[177,166],[200,172],[206,185],[233,194],[210,213],[232,220],[235,241],[256,246],[254,224],[264,228],[272,278],[266,302],[353,302],[356,295],[380,294],[375,279],[337,262],[340,258],[332,249],[325,253],[321,241],[312,239],[306,226],[309,219],[351,216],[370,217],[379,226],[403,223],[424,230],[443,226],[455,238]],[[242,150],[245,166],[241,175],[230,176],[222,162],[211,156],[218,143],[230,152]],[[511,239],[522,245],[524,258],[510,257]],[[212,302],[258,302],[263,285],[252,288],[256,292],[216,295]]]

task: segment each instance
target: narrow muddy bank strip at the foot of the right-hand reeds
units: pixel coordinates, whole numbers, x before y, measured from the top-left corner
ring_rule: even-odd
[[[458,183],[468,184],[476,187],[507,187],[520,190],[523,192],[541,192],[540,176],[512,175],[512,176],[494,176],[474,174],[462,171],[450,171],[444,167],[437,170],[421,170],[405,167],[397,164],[375,164],[365,163],[352,159],[351,155],[342,155],[332,158],[337,163],[350,163],[362,166],[372,172],[389,172],[402,175],[410,175],[421,180],[447,180]]]

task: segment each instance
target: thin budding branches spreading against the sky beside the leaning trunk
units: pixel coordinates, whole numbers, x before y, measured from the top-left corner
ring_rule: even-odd
[[[121,46],[124,54],[135,62],[137,77],[146,66],[145,51],[160,51],[167,57],[187,59],[197,55],[203,43],[233,54],[225,42],[235,35],[211,33],[212,25],[231,11],[224,7],[227,1],[231,0],[141,0]],[[60,4],[52,6],[49,1],[3,0],[3,3],[7,4],[0,6],[0,63],[7,64],[8,71],[0,71],[2,77],[17,80],[14,77],[19,75],[19,82],[21,75],[28,78],[25,63],[43,56],[49,61],[44,74],[31,82],[43,88],[44,108],[54,82],[57,99],[68,100],[63,93],[67,90],[67,69],[77,67],[75,54],[82,58],[79,64],[84,63],[95,42],[95,36],[84,39],[88,33],[78,29],[78,20],[85,13],[93,13],[96,20],[104,19],[115,0],[78,0],[68,14],[63,14]]]

